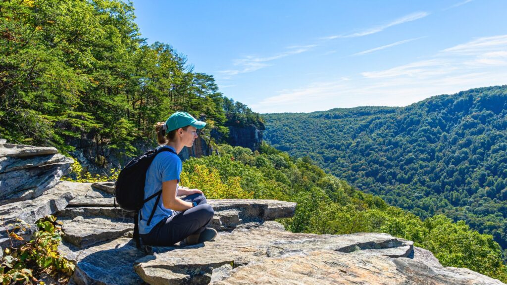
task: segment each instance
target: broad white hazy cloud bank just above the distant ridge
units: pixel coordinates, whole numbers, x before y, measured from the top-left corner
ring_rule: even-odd
[[[507,83],[507,34],[444,49],[432,57],[335,81],[281,90],[249,104],[256,112],[312,112],[364,105],[404,106],[429,96]]]

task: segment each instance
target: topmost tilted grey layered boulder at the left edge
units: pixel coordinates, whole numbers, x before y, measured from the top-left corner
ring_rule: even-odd
[[[55,148],[0,144],[0,204],[41,196],[73,162]]]

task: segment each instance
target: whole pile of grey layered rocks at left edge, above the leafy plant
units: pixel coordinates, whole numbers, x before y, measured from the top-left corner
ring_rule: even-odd
[[[55,148],[12,145],[0,140],[0,247],[14,242],[7,231],[18,220],[30,225],[18,234],[29,237],[35,221],[65,208],[74,198],[70,192],[53,190],[73,162]]]

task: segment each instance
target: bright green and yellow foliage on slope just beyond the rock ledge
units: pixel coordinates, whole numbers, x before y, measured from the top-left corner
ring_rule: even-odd
[[[470,230],[462,221],[453,223],[442,215],[422,221],[325,174],[308,157],[294,159],[267,144],[258,152],[222,145],[219,153],[221,156],[185,161],[182,185],[202,188],[213,198],[238,198],[246,191],[257,199],[294,201],[298,203],[294,217],[279,220],[287,230],[317,234],[385,232],[413,240],[416,246],[432,251],[445,266],[466,267],[507,281],[498,243],[491,235]]]

